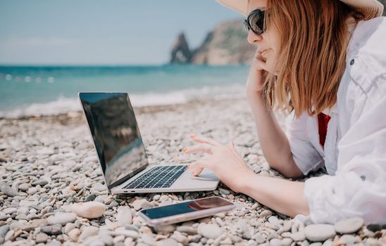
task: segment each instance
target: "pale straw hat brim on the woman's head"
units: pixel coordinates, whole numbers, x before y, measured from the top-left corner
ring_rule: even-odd
[[[248,1],[250,0],[216,0],[223,6],[231,8],[234,11],[242,13],[242,15],[247,16],[247,6]],[[320,0],[323,1],[323,0]],[[365,20],[370,20],[371,18],[378,17],[382,15],[383,5],[380,4],[377,0],[340,0],[354,8],[354,10],[363,14]]]

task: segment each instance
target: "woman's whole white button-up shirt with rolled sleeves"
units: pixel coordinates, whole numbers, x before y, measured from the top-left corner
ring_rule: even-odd
[[[314,223],[361,216],[386,224],[386,18],[360,21],[330,112],[324,150],[318,118],[286,119],[294,162],[303,174],[325,165],[329,175],[307,179],[304,196]]]

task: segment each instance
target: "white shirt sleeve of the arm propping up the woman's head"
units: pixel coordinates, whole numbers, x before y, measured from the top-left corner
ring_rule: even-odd
[[[323,157],[309,140],[309,134],[307,134],[308,119],[309,115],[306,112],[301,114],[299,118],[295,118],[292,112],[285,119],[285,129],[290,142],[292,157],[304,175],[324,165]]]

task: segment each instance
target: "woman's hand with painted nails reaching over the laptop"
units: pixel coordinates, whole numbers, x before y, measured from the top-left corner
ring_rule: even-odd
[[[241,192],[240,184],[242,179],[253,171],[247,167],[242,157],[240,157],[232,142],[222,145],[211,138],[197,137],[192,135],[192,140],[197,145],[192,148],[185,148],[184,153],[208,153],[208,156],[188,165],[193,169],[192,175],[197,176],[202,169],[207,168],[215,174],[220,181],[235,192]]]

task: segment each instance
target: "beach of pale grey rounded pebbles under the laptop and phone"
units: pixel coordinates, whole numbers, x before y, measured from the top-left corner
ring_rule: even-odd
[[[197,134],[233,141],[256,174],[285,179],[264,159],[244,98],[147,106],[135,113],[151,164],[197,160],[201,154],[182,153]],[[278,119],[283,125],[284,117]],[[77,111],[0,119],[0,175],[0,245],[386,245],[385,225],[364,225],[359,217],[335,225],[292,219],[221,182],[204,192],[111,195]],[[236,208],[156,230],[137,214],[213,195]]]

